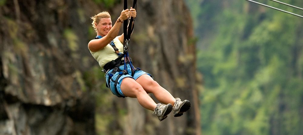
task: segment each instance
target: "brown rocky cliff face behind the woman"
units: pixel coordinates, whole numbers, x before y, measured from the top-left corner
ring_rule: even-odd
[[[184,116],[162,122],[136,99],[104,87],[87,49],[95,36],[89,17],[108,10],[114,20],[123,5],[95,2],[0,2],[0,134],[199,134],[195,46],[184,2],[138,1],[130,44],[135,66],[192,103]]]

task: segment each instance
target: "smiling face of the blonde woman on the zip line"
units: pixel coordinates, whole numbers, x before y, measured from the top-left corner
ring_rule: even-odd
[[[112,19],[111,18],[101,18],[97,26],[98,35],[105,36],[108,34],[109,30],[112,29]]]

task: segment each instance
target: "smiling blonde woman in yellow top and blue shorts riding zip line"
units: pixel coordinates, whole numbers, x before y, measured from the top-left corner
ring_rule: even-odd
[[[97,33],[97,37],[88,43],[88,49],[92,56],[99,62],[101,68],[106,69],[105,67],[109,65],[107,63],[117,60],[119,52],[123,52],[124,34],[118,35],[118,33],[122,22],[124,20],[127,21],[129,17],[136,17],[136,10],[132,7],[121,12],[114,26],[112,26],[111,16],[108,12],[101,12],[92,17],[92,26]],[[118,61],[121,61],[120,57]],[[172,110],[174,116],[178,117],[190,108],[190,102],[188,100],[181,101],[180,98],[174,98],[166,89],[154,81],[150,74],[142,70],[135,70],[134,73],[131,74],[130,63],[126,65],[128,67],[127,74],[114,72],[124,69],[123,60],[120,64],[118,63],[118,68],[114,69],[111,67],[106,69],[106,83],[113,94],[119,97],[137,98],[143,107],[154,111],[160,121],[164,120]],[[164,104],[156,104],[148,93],[153,93],[155,97]],[[172,104],[174,106],[172,106]]]

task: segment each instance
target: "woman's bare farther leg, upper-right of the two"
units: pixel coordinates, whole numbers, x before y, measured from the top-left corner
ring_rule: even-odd
[[[161,87],[149,75],[144,74],[138,77],[138,79],[136,79],[136,82],[138,82],[147,93],[153,93],[161,103],[170,103],[174,105],[174,103],[176,102],[175,98],[171,95],[171,93]]]

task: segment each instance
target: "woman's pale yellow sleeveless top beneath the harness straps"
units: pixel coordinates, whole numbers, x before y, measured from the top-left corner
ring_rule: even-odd
[[[118,39],[118,36],[113,41],[115,43],[115,46],[119,49],[119,52],[123,53],[123,44]],[[98,52],[92,52],[91,50],[89,50],[89,52],[91,52],[95,60],[99,62],[101,68],[103,68],[106,63],[118,58],[117,53],[110,44]]]

